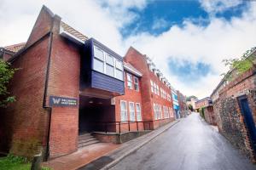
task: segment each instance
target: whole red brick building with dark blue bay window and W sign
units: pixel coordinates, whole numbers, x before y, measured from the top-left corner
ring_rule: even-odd
[[[146,55],[130,48],[123,58],[46,7],[27,42],[1,56],[20,68],[9,84],[16,102],[1,111],[3,152],[54,158],[83,147],[84,133],[123,142],[173,121],[171,86]]]

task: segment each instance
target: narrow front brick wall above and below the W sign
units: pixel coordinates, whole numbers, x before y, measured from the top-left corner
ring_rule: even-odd
[[[80,50],[59,35],[61,19],[55,17],[49,65],[49,96],[79,99]],[[51,111],[49,156],[62,156],[77,150],[79,134],[79,106],[54,107]]]

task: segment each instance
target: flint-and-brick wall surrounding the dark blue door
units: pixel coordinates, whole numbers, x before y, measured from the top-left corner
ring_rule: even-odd
[[[230,140],[231,144],[238,147],[252,161],[255,161],[255,152],[244,116],[238,104],[237,97],[246,95],[255,122],[256,117],[256,76],[255,68],[245,72],[234,81],[230,82],[219,92],[219,98],[213,103],[214,113],[217,116],[219,132]]]

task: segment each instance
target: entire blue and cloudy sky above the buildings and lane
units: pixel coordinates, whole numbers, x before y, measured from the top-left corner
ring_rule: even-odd
[[[42,6],[124,56],[132,46],[153,59],[183,94],[212,94],[223,59],[256,46],[256,1],[1,0],[0,47],[26,42]]]

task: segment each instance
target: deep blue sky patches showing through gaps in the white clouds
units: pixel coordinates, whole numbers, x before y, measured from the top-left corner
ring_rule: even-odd
[[[221,2],[217,6],[221,6]],[[243,1],[235,7],[214,13],[214,17],[230,21],[233,17],[241,17],[248,2]],[[206,27],[210,24],[212,13],[208,13],[202,8],[197,0],[160,0],[151,1],[143,10],[131,8],[138,16],[134,22],[121,29],[123,37],[131,34],[148,32],[151,35],[159,36],[168,31],[172,26],[183,27],[184,20],[192,20],[195,25]],[[174,73],[180,81],[198,82],[198,79],[206,77],[212,71],[210,63],[202,61],[191,62],[188,59],[179,60],[181,65],[177,65],[177,59],[170,59],[168,62],[169,71]]]

